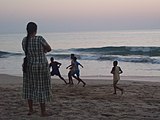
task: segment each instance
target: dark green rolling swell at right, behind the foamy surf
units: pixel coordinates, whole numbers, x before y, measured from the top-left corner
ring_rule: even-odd
[[[79,48],[72,51],[80,53],[101,54],[101,55],[142,55],[142,56],[160,56],[160,47],[99,47],[99,48]]]

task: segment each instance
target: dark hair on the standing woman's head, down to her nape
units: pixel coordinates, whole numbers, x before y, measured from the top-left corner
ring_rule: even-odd
[[[30,35],[34,32],[37,32],[37,25],[34,22],[29,22],[27,24],[27,40],[30,38]]]

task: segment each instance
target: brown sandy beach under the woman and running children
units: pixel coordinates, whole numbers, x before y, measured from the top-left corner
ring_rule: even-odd
[[[125,92],[114,95],[110,76],[83,78],[86,87],[76,85],[76,80],[69,86],[52,78],[53,100],[46,106],[52,116],[42,118],[38,103],[34,104],[36,113],[26,115],[22,77],[0,74],[0,120],[160,120],[160,82],[145,79],[160,77],[122,77],[119,86]]]

